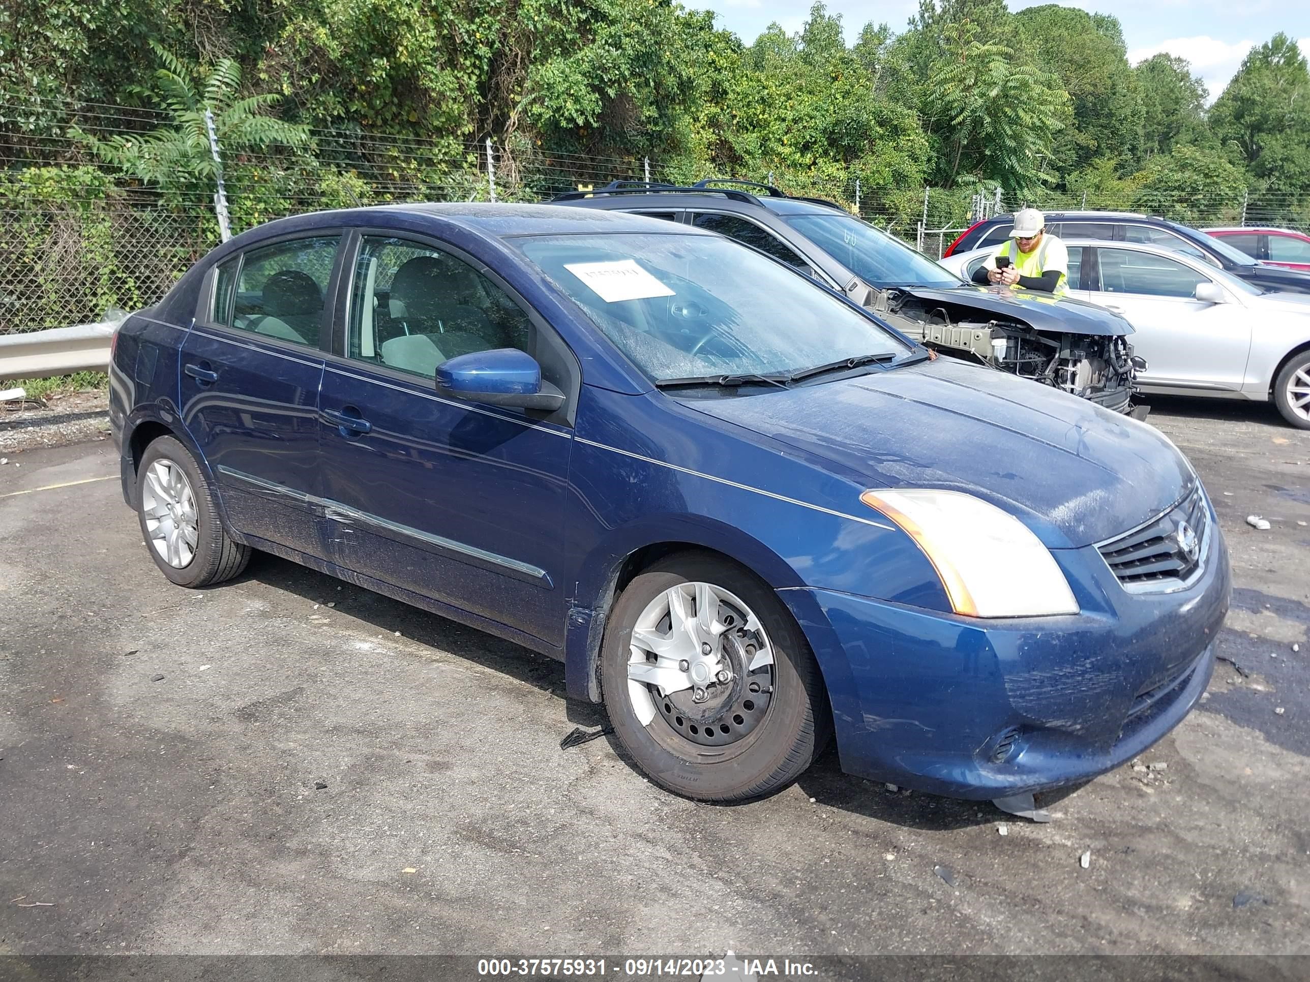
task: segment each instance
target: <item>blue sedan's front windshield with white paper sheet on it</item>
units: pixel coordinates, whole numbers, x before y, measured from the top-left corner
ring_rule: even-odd
[[[651,380],[794,373],[912,351],[849,304],[718,236],[517,240]]]

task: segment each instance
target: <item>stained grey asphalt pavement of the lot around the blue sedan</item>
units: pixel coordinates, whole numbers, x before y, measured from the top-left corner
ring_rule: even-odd
[[[111,444],[12,453],[0,955],[1310,953],[1310,433],[1151,422],[1231,547],[1225,660],[1048,825],[831,752],[762,801],[675,797],[612,740],[561,750],[604,721],[562,665],[270,556],[172,587]]]

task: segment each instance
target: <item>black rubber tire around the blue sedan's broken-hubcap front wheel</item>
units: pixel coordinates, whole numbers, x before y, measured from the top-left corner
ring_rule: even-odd
[[[740,598],[773,648],[773,693],[764,718],[724,752],[693,744],[658,711],[642,725],[627,689],[637,619],[656,597],[684,583],[709,583]],[[600,657],[601,695],[614,735],[651,780],[685,797],[730,803],[772,795],[799,778],[832,735],[819,665],[791,613],[768,584],[718,556],[681,553],[634,577],[610,611]]]

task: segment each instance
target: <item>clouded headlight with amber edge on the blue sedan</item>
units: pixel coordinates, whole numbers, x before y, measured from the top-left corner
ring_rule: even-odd
[[[865,491],[859,500],[905,530],[942,577],[956,614],[1077,614],[1069,583],[1028,528],[959,491]]]

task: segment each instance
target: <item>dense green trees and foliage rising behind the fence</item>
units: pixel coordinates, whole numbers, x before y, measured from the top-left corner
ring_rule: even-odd
[[[1186,62],[1133,67],[1114,17],[1055,4],[920,0],[901,33],[870,24],[848,45],[817,3],[802,31],[747,45],[671,0],[9,0],[0,93],[5,166],[98,158],[178,195],[208,189],[210,106],[237,227],[380,185],[477,196],[487,137],[508,198],[558,190],[548,160],[639,177],[650,157],[664,179],[773,173],[846,202],[858,178],[880,215],[917,215],[931,186],[929,224],[997,187],[1007,204],[1200,221],[1248,199],[1310,219],[1296,42],[1252,50],[1207,111]],[[72,110],[89,103],[168,119],[83,132]]]

